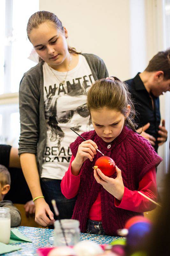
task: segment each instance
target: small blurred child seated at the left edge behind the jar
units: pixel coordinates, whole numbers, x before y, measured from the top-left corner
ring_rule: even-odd
[[[21,215],[18,209],[12,204],[11,201],[3,200],[4,196],[10,190],[11,177],[8,169],[0,164],[0,207],[10,208],[11,215],[11,228],[17,227],[21,223]]]

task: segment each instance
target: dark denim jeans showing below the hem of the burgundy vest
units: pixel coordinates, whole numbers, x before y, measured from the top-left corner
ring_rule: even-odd
[[[87,219],[86,232],[92,234],[106,235],[102,226],[102,222],[90,219]]]

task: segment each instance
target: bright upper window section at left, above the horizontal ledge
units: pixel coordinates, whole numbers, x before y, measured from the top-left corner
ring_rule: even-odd
[[[29,68],[35,66],[28,60],[32,44],[27,39],[26,25],[29,17],[39,9],[38,0],[2,0],[1,34],[3,35],[0,51],[3,56],[1,64],[1,93],[18,92],[19,82]],[[2,79],[2,78],[1,78]]]

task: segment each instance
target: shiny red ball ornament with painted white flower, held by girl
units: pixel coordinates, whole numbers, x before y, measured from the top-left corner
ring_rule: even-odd
[[[104,173],[104,175],[110,177],[116,171],[116,164],[111,157],[101,156],[96,160],[95,166],[93,166],[93,169],[96,170],[97,168],[99,168]]]

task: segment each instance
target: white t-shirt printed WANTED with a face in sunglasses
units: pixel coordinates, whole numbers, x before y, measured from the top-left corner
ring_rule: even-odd
[[[56,78],[48,64],[43,64],[47,141],[41,178],[63,178],[72,155],[69,145],[78,136],[70,128],[79,134],[92,129],[89,127],[90,114],[86,99],[94,78],[85,57],[81,54],[78,56],[78,65],[68,72],[64,86],[60,86],[60,83],[67,72],[52,69]]]

